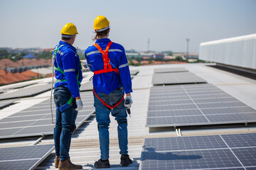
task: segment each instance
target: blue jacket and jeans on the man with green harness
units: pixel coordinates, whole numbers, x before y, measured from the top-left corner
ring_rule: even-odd
[[[70,107],[65,111],[60,112],[59,109],[56,109],[56,123],[53,130],[55,154],[63,162],[69,157],[71,135],[76,128],[75,120],[78,111],[75,111],[75,97],[80,96],[78,81],[82,81],[82,70],[75,47],[60,41],[55,49],[57,48],[54,66],[55,78],[58,82],[55,84],[53,93],[56,108],[64,106],[70,97],[73,97]]]

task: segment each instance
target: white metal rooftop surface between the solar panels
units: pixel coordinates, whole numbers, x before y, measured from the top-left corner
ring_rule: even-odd
[[[128,120],[128,135],[129,135],[129,155],[133,160],[133,164],[129,166],[121,166],[119,164],[119,147],[117,140],[117,122],[112,116],[110,123],[110,169],[139,169],[142,146],[144,139],[148,137],[176,137],[174,128],[154,128],[146,127],[146,115],[149,105],[149,94],[154,69],[183,67],[189,72],[196,74],[198,77],[205,79],[208,84],[213,84],[219,89],[225,91],[231,96],[237,98],[248,106],[256,109],[256,80],[241,77],[239,75],[225,72],[206,64],[163,64],[141,67],[130,67],[130,69],[138,69],[139,73],[132,79],[132,108],[131,118]],[[86,72],[83,83],[89,81],[92,73]],[[51,81],[51,78],[37,80],[38,84],[43,84]],[[4,88],[1,87],[1,88]],[[32,98],[21,98],[18,103],[0,110],[0,119],[13,115],[18,111],[23,111],[41,101],[46,101],[50,96],[50,91],[47,91]],[[93,98],[92,98],[93,100]],[[50,107],[50,106],[49,106]],[[79,113],[78,113],[79,114]],[[182,129],[181,135],[220,135],[233,133],[256,132],[256,127],[243,126],[211,126],[208,128],[191,128]],[[38,137],[39,138],[39,137]],[[13,140],[1,141],[0,147],[18,147],[28,146],[36,142],[35,137],[17,138]],[[53,137],[43,138],[37,145],[53,144]],[[55,169],[53,166],[55,153],[50,154],[36,169]],[[70,158],[74,164],[82,164],[83,169],[94,169],[94,162],[100,159],[100,148],[97,132],[97,123],[95,114],[83,123],[78,130],[73,134],[73,139],[70,147]]]

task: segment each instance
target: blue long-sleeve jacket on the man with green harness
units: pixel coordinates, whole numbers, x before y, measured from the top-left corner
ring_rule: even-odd
[[[60,47],[60,45],[63,45]],[[55,70],[55,78],[65,79],[65,81],[60,81],[55,84],[55,88],[58,86],[65,86],[70,90],[73,98],[80,96],[78,81],[82,81],[82,70],[80,68],[80,59],[76,53],[75,47],[60,40],[58,45],[59,50],[56,54],[56,59],[54,61],[55,67],[60,67],[64,72]],[[58,65],[57,65],[58,63]],[[77,79],[79,73],[79,77]]]

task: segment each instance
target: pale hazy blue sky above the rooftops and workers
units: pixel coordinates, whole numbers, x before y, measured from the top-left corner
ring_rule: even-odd
[[[256,0],[0,0],[0,47],[53,48],[74,23],[74,46],[92,45],[93,22],[110,21],[125,50],[198,52],[201,42],[256,33]]]

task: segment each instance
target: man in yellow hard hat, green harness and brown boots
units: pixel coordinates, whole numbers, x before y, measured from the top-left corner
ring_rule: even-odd
[[[56,123],[53,132],[55,142],[55,167],[58,169],[82,169],[82,166],[70,162],[69,149],[71,135],[75,130],[78,111],[82,110],[80,83],[82,68],[73,43],[78,30],[73,23],[67,23],[60,31],[61,40],[53,51],[55,67],[54,101]]]

